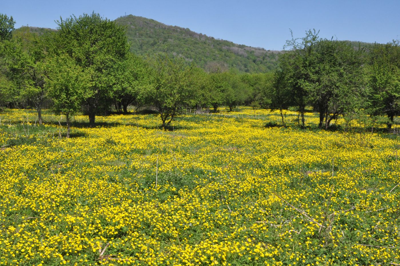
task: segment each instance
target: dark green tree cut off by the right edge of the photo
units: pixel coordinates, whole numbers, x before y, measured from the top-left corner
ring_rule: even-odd
[[[387,126],[400,113],[400,46],[399,41],[375,44],[370,51],[368,83],[371,88],[372,115],[387,115]]]

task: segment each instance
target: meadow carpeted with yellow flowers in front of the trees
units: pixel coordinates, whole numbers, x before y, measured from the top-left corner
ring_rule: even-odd
[[[393,134],[265,127],[279,114],[244,107],[173,131],[77,116],[70,139],[35,118],[0,113],[0,265],[400,264]]]

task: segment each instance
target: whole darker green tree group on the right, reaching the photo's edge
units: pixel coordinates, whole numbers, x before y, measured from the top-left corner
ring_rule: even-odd
[[[343,116],[348,125],[353,119],[368,117],[377,121],[386,116],[388,128],[400,112],[400,46],[398,40],[352,47],[345,41],[318,37],[309,30],[304,38],[286,42],[290,50],[279,58],[272,86],[271,107],[298,110],[298,123],[304,124],[306,106],[319,113],[320,128]]]

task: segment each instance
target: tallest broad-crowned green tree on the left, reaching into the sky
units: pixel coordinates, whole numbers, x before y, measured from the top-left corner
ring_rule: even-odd
[[[125,60],[129,45],[125,29],[94,12],[57,21],[56,55],[68,54],[91,77],[82,109],[94,127],[95,116],[107,110],[120,77],[114,68]]]

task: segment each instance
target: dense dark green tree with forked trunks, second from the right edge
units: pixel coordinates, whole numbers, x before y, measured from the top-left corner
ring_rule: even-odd
[[[307,92],[311,105],[320,114],[319,128],[327,129],[333,119],[364,99],[364,49],[324,39],[316,43],[313,59]]]

